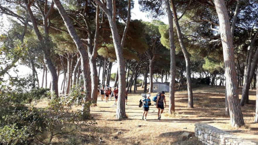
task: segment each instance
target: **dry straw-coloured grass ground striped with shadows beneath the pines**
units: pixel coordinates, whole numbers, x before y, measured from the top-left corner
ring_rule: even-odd
[[[258,134],[255,134],[257,130],[251,130],[257,128],[257,124],[252,123],[254,119],[254,91],[249,93],[251,104],[242,108],[246,125],[241,128],[232,128],[229,124],[230,118],[225,116],[224,91],[224,87],[200,86],[195,88],[193,91],[195,108],[187,108],[187,91],[177,91],[175,94],[176,111],[169,115],[168,108],[165,108],[161,120],[157,120],[157,108],[151,105],[147,121],[141,120],[142,108],[138,107],[141,99],[140,94],[142,93],[140,88],[138,88],[137,93],[128,95],[128,105],[126,106],[128,119],[122,121],[115,120],[116,106],[113,105],[114,99],[106,103],[100,101],[99,98],[97,106],[91,108],[91,115],[98,124],[81,128],[80,133],[76,134],[78,137],[73,136],[71,138],[78,139],[82,142],[80,144],[199,145],[200,142],[195,137],[184,139],[180,135],[183,132],[193,133],[195,123],[206,123],[223,130],[239,129],[241,132],[234,132],[233,134],[258,143]],[[155,95],[156,93],[151,93],[151,96]],[[166,95],[168,96],[168,94]],[[168,97],[166,98],[168,102]],[[38,107],[44,107],[45,103],[39,103]],[[80,106],[74,109],[80,109]],[[137,127],[138,125],[142,126]],[[82,140],[82,137],[84,140]],[[104,142],[100,142],[99,138]]]

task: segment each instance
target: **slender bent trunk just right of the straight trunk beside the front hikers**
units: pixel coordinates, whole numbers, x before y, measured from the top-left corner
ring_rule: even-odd
[[[174,4],[174,0],[171,0],[172,4],[172,9],[173,9],[173,14],[174,14],[174,22],[176,24],[176,31],[177,31],[177,36],[179,40],[180,47],[182,49],[182,52],[184,54],[185,62],[186,62],[186,76],[187,76],[187,90],[188,90],[188,108],[193,108],[193,90],[192,90],[192,82],[191,82],[191,63],[190,63],[190,58],[188,56],[188,52],[186,50],[186,47],[183,42],[183,37],[181,33],[181,29],[178,23],[178,18],[176,14],[176,7]]]

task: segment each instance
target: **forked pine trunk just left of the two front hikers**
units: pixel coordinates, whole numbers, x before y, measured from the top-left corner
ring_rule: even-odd
[[[128,16],[127,22],[125,24],[125,29],[123,33],[122,39],[118,33],[118,28],[116,25],[116,1],[107,0],[106,6],[100,0],[94,0],[102,10],[106,13],[108,17],[108,22],[111,28],[113,44],[116,51],[116,58],[118,62],[118,101],[117,101],[117,109],[116,109],[116,119],[120,120],[126,118],[125,115],[125,61],[123,58],[123,46],[125,41],[125,35],[128,30],[129,22],[130,22],[130,10],[131,10],[131,1],[128,0]],[[112,3],[113,2],[113,3]]]

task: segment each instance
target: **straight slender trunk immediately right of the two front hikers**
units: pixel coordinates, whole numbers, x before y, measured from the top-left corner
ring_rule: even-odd
[[[166,0],[166,9],[169,21],[169,46],[170,46],[170,83],[169,83],[169,114],[175,112],[175,78],[176,78],[176,63],[175,63],[175,45],[174,45],[174,30],[173,16],[169,5],[169,0]]]

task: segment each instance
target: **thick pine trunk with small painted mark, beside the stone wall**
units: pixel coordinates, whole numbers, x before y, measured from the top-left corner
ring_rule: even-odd
[[[228,109],[230,112],[230,122],[233,127],[241,127],[245,123],[239,104],[234,47],[230,32],[228,11],[224,0],[214,0],[214,4],[220,24],[220,37],[225,63],[226,89]]]

